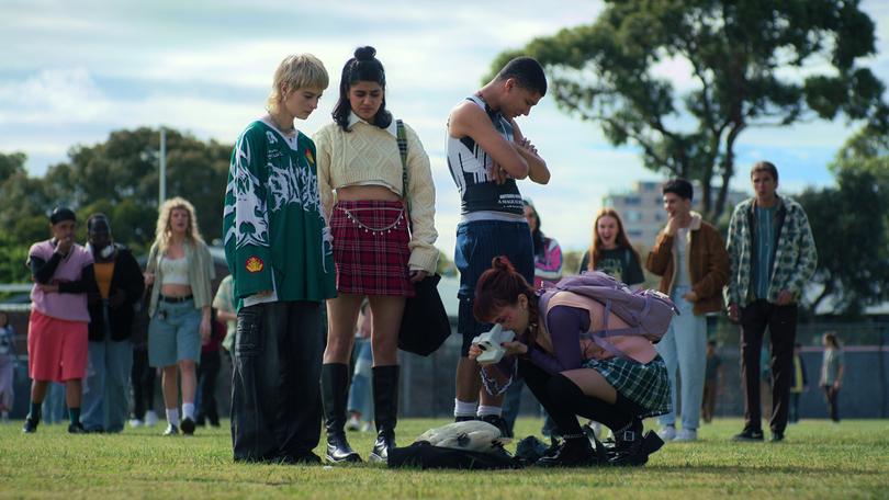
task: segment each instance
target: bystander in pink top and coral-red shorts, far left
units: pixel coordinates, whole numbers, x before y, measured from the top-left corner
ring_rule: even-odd
[[[31,409],[22,431],[34,433],[50,380],[65,383],[68,432],[81,434],[82,380],[87,373],[89,321],[87,291],[95,286],[92,255],[75,242],[77,217],[58,207],[49,216],[53,238],[27,252],[34,288],[27,323],[27,372],[32,378]]]

